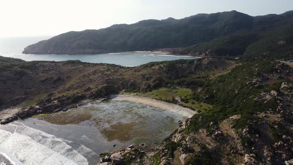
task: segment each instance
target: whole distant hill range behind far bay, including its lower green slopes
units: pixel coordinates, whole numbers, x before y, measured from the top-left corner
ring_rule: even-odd
[[[283,41],[279,38],[282,32],[286,29],[285,37],[288,37],[287,34],[293,34],[292,26],[293,11],[253,17],[233,10],[183,19],[149,19],[99,30],[71,31],[30,45],[23,53],[98,54],[180,48],[172,53],[238,56],[244,54],[252,43],[257,47],[262,44],[259,42],[265,42],[264,38],[275,36]],[[289,40],[291,42],[290,37]],[[286,44],[290,43],[287,41]]]

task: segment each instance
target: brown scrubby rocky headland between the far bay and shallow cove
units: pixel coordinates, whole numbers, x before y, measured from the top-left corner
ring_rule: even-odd
[[[0,72],[0,107],[23,108],[2,123],[35,113],[67,110],[82,104],[81,100],[104,98],[123,89],[151,90],[196,73],[221,70],[233,63],[222,58],[207,58],[149,63],[139,67],[79,61],[7,64],[8,67]]]

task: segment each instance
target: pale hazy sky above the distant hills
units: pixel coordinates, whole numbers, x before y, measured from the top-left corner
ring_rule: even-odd
[[[57,35],[230,10],[280,14],[293,10],[293,0],[0,0],[0,37]]]

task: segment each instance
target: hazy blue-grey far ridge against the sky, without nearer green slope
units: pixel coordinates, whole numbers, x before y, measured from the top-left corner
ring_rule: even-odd
[[[71,31],[26,47],[25,54],[98,54],[187,47],[215,38],[266,31],[292,23],[293,12],[249,16],[237,11],[197,14],[183,19],[143,20],[99,30]],[[256,33],[256,34],[255,34]],[[255,41],[253,37],[244,45]],[[237,49],[238,50],[238,49]],[[240,48],[243,52],[243,48]],[[240,51],[241,52],[241,51]]]

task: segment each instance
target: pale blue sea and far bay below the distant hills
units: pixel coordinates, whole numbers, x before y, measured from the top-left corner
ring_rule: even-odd
[[[23,49],[38,41],[49,39],[50,37],[18,37],[0,38],[0,56],[19,58],[25,61],[67,61],[80,60],[88,63],[108,63],[121,66],[139,66],[149,62],[169,61],[179,59],[194,59],[196,57],[171,56],[154,54],[149,52],[122,52],[96,55],[27,55],[22,54]]]

